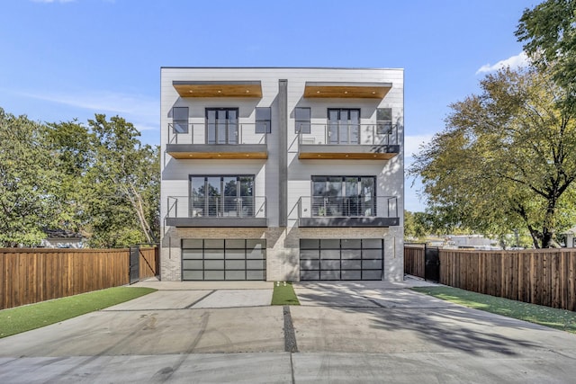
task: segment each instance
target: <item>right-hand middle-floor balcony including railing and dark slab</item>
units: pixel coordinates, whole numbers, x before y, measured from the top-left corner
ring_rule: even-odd
[[[392,227],[400,225],[395,196],[302,196],[299,227]]]

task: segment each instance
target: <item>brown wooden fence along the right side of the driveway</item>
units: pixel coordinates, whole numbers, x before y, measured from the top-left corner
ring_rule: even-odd
[[[576,310],[576,249],[440,249],[440,283],[463,290]],[[404,272],[424,277],[424,247],[404,248]]]

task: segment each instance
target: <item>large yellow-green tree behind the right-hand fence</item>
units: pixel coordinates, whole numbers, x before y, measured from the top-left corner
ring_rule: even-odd
[[[500,70],[482,94],[451,105],[446,128],[415,156],[430,209],[485,234],[527,228],[536,247],[554,245],[576,217],[576,116],[564,90],[535,68]]]

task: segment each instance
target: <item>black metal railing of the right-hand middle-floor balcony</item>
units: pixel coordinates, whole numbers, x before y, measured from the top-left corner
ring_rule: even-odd
[[[299,218],[398,218],[395,196],[302,196]]]

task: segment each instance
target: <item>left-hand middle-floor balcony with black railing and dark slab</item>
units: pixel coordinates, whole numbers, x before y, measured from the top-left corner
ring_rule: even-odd
[[[169,227],[267,227],[266,196],[168,196]]]

